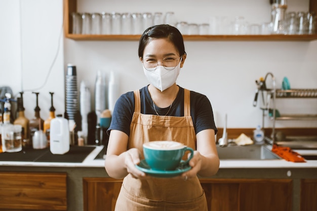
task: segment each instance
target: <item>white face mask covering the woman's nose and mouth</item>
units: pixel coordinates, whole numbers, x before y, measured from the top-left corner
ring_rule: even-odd
[[[163,92],[167,88],[170,88],[175,82],[180,72],[180,63],[173,69],[167,70],[161,65],[157,66],[154,70],[147,70],[143,66],[143,71],[148,79],[148,81],[153,85],[156,89],[161,90]]]

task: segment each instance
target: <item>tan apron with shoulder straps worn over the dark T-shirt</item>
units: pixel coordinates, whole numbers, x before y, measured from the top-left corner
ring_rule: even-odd
[[[184,90],[184,116],[141,114],[140,91],[134,91],[135,109],[130,125],[128,149],[149,141],[172,140],[196,149],[196,136],[190,116],[190,92]],[[186,159],[184,155],[183,159]],[[141,159],[144,159],[143,153]],[[125,177],[115,211],[207,211],[207,201],[197,177],[182,179]]]

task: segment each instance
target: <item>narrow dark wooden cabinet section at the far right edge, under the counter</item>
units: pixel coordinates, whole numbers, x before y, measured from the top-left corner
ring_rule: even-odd
[[[317,179],[302,179],[300,211],[317,210]]]

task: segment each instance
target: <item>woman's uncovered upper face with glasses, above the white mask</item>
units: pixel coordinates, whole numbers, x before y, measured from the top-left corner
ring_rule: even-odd
[[[162,65],[162,61],[166,57],[179,58],[182,56],[180,67],[183,67],[186,55],[179,55],[175,46],[166,38],[151,39],[144,48],[143,60],[154,59]],[[140,57],[142,61],[142,58]]]

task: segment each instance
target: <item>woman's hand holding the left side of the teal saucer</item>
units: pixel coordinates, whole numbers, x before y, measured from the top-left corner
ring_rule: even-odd
[[[134,178],[146,179],[146,174],[135,167],[135,165],[139,163],[140,151],[137,148],[131,148],[128,151],[126,151],[125,166],[127,168],[127,172],[130,173],[131,176]]]

